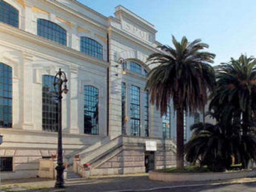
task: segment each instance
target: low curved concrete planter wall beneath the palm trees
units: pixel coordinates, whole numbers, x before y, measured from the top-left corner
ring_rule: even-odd
[[[149,172],[150,180],[158,181],[207,181],[207,180],[229,180],[243,177],[255,177],[256,169],[250,171],[234,171],[234,172],[221,172],[221,173],[159,173]]]

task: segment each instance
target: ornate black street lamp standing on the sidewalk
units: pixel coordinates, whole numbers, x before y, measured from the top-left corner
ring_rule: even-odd
[[[63,83],[64,83],[64,88],[62,89]],[[55,187],[63,188],[64,187],[63,172],[65,167],[63,166],[63,157],[62,157],[61,99],[62,99],[62,93],[67,94],[68,89],[67,89],[67,76],[63,71],[61,71],[61,68],[59,69],[58,73],[55,75],[53,85],[58,98],[58,160],[57,160],[58,166],[55,168],[57,170]]]

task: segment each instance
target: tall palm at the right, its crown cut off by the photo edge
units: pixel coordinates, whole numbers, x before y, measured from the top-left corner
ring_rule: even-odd
[[[253,116],[256,114],[256,59],[241,55],[231,58],[229,63],[217,67],[218,81],[212,95],[210,110],[221,116],[221,121],[240,124],[241,132],[234,143],[235,156],[247,166],[250,159],[255,159],[256,139]],[[237,154],[237,155],[236,155]]]

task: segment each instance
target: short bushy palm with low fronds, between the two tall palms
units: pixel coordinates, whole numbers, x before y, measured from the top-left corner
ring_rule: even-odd
[[[226,124],[224,124],[226,125]],[[186,143],[186,160],[190,163],[200,162],[200,166],[207,165],[213,172],[224,171],[232,164],[233,137],[230,129],[218,122],[216,125],[210,123],[198,123],[192,125],[192,137]]]

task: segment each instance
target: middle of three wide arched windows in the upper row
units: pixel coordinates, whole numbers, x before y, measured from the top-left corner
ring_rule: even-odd
[[[59,44],[67,45],[67,31],[49,20],[37,20],[37,34]]]

